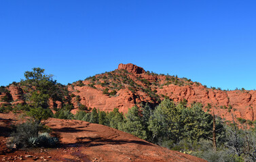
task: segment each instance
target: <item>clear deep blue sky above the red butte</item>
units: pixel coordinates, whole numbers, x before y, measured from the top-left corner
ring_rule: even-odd
[[[134,63],[256,88],[256,1],[0,1],[0,86],[34,67],[62,84]]]

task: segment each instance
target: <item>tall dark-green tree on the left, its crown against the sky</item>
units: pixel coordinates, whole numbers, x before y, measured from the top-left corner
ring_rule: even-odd
[[[48,101],[50,97],[56,99],[56,80],[53,80],[53,75],[44,74],[41,68],[33,68],[32,72],[24,72],[25,80],[21,80],[22,86],[26,87],[28,93],[26,94],[27,114],[31,116],[34,121],[40,123],[43,119],[48,119],[52,116],[52,111],[49,108]]]

